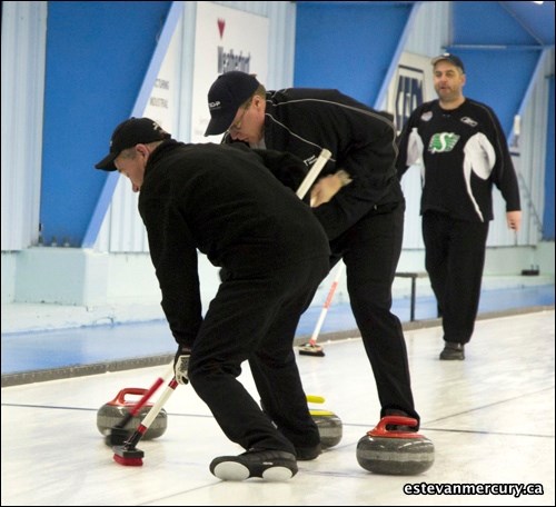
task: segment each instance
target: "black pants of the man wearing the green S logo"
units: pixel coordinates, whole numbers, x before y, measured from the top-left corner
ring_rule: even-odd
[[[423,216],[425,266],[443,318],[444,339],[467,344],[479,308],[489,222]]]

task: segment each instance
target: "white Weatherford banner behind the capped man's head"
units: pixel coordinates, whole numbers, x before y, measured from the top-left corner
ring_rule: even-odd
[[[254,73],[266,82],[268,18],[197,2],[195,33],[191,142],[220,142],[221,136],[205,137],[210,120],[208,90],[218,76],[229,70]]]

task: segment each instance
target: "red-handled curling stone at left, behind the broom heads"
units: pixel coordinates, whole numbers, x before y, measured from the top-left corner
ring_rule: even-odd
[[[137,405],[138,400],[130,400],[126,398],[128,395],[137,395],[143,396],[147,392],[147,389],[136,388],[136,387],[127,387],[113,398],[111,401],[102,405],[97,412],[97,428],[100,434],[103,436],[108,436],[112,427],[117,426],[121,422],[122,418],[128,415],[129,411]],[[141,420],[147,416],[149,410],[151,409],[152,404],[145,404],[138,414],[130,419],[126,429],[129,430],[130,435],[133,433]],[[155,420],[149,426],[149,429],[145,433],[143,439],[152,439],[158,438],[166,431],[168,427],[168,415],[166,410],[162,408]]]

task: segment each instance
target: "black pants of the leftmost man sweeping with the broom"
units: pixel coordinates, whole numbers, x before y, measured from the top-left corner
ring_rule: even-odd
[[[227,271],[210,302],[191,351],[189,378],[226,436],[245,449],[295,454],[295,447],[320,441],[294,338],[328,267],[321,257],[250,276]],[[245,360],[265,412],[237,379]]]

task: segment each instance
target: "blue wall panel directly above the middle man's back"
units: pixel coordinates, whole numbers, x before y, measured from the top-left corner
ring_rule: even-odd
[[[297,3],[294,86],[375,103],[411,4],[371,3]]]

